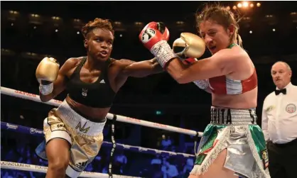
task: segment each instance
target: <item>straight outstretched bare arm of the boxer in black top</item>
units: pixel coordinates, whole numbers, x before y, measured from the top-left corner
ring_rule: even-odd
[[[131,60],[121,60],[123,68],[121,74],[126,77],[146,77],[149,74],[157,74],[163,72],[161,65],[153,58],[152,60],[144,60],[134,62]]]

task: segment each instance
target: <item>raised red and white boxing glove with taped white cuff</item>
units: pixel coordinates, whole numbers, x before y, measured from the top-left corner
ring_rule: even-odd
[[[159,64],[164,67],[169,60],[177,56],[167,43],[169,35],[167,28],[163,26],[166,30],[161,29],[162,26],[160,26],[160,24],[163,25],[163,23],[156,22],[148,23],[144,29],[141,30],[139,39],[141,40],[141,43],[143,43],[144,46],[156,57]],[[168,35],[166,35],[166,33]]]

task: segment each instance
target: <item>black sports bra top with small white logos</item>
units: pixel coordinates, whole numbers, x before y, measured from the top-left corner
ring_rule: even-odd
[[[112,106],[114,96],[117,94],[110,87],[107,75],[108,67],[112,60],[109,58],[102,67],[102,73],[94,83],[85,83],[80,79],[80,70],[87,61],[87,57],[83,57],[80,64],[70,76],[66,89],[71,99],[85,106],[93,108],[108,108]]]

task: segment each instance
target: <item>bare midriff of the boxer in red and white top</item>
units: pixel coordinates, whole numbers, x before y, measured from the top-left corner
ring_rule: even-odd
[[[230,109],[252,109],[257,107],[258,88],[244,94],[218,95],[212,94],[212,106]]]

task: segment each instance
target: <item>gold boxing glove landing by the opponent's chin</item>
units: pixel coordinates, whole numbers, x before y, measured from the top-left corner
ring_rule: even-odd
[[[182,60],[199,58],[205,52],[205,42],[193,33],[181,33],[180,38],[173,42],[173,52]]]

